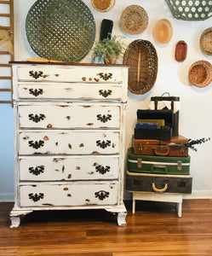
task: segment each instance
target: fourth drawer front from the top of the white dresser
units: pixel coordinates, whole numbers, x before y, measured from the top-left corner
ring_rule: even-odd
[[[119,131],[20,131],[19,154],[118,154]]]

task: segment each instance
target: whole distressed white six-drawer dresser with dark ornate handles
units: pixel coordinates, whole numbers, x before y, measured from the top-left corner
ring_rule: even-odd
[[[36,210],[105,209],[126,224],[123,204],[128,67],[11,62],[15,201],[11,228]]]

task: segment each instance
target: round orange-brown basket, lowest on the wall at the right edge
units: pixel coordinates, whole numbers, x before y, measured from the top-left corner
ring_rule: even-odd
[[[209,61],[196,61],[188,72],[188,79],[191,84],[203,88],[212,82],[212,65]]]

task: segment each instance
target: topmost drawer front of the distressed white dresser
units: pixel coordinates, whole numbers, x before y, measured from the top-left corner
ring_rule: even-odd
[[[18,67],[19,81],[122,83],[123,69],[116,67]]]

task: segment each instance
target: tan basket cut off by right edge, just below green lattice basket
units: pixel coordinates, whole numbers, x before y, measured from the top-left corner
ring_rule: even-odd
[[[199,43],[206,55],[212,55],[212,26],[203,31]]]

